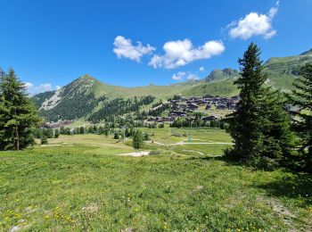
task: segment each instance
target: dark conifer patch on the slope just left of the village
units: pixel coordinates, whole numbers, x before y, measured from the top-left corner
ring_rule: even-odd
[[[140,116],[139,110],[141,106],[152,104],[155,97],[152,95],[147,95],[143,97],[136,97],[134,99],[122,99],[116,98],[110,102],[103,104],[98,112],[94,112],[87,120],[92,121],[93,123],[98,123],[100,121],[109,121],[112,122],[115,117],[124,115],[129,112],[137,112],[137,115]]]

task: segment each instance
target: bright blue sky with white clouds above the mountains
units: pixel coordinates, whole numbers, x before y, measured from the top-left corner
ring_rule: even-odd
[[[37,93],[88,73],[125,87],[168,85],[312,48],[312,0],[0,0],[0,67]],[[139,42],[139,43],[137,43]]]

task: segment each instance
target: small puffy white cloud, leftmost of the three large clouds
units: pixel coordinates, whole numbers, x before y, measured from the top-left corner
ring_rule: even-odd
[[[113,45],[115,46],[113,52],[118,58],[124,57],[135,62],[140,62],[144,54],[152,54],[156,49],[150,45],[143,46],[141,42],[137,42],[137,46],[133,46],[131,39],[121,36],[115,37]]]

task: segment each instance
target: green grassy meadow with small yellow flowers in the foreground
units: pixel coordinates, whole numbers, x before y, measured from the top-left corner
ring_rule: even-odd
[[[96,135],[1,152],[0,230],[312,229],[311,175],[229,162],[230,145],[200,144],[230,143],[217,128],[144,131],[159,154],[119,156],[130,140]]]

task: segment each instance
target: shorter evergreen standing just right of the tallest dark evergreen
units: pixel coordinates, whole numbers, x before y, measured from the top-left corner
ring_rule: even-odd
[[[288,165],[291,159],[293,134],[290,115],[285,110],[285,97],[278,90],[263,87],[259,97],[260,133],[255,164],[267,170]]]

